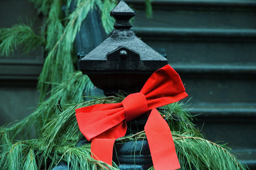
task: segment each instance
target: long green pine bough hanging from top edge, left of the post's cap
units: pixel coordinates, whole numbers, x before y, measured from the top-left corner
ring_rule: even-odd
[[[79,32],[82,21],[86,18],[88,12],[93,9],[95,1],[101,2],[101,0],[77,0],[76,10],[64,18],[62,22],[59,17],[61,15],[61,1],[52,2],[47,20],[49,33],[47,34],[46,49],[50,50],[39,76],[38,89],[41,90],[39,101],[44,101],[48,92],[50,84],[47,84],[47,82],[52,83],[51,95],[53,95],[55,94],[55,83],[67,81],[69,74],[74,72],[73,42],[77,32]],[[65,24],[64,28],[62,23]]]

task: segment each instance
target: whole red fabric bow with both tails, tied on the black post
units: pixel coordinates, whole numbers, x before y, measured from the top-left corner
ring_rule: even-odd
[[[122,103],[96,104],[76,109],[81,133],[92,140],[93,158],[112,164],[113,144],[125,135],[126,122],[152,110],[144,127],[155,170],[176,170],[180,164],[169,125],[156,107],[174,103],[188,95],[180,76],[166,65],[155,71],[139,93],[128,95]]]

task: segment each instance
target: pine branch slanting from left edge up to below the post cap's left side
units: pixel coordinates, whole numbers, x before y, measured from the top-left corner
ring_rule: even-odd
[[[67,82],[58,84],[54,89],[55,94],[42,102],[38,108],[26,118],[18,122],[0,127],[0,144],[9,144],[20,134],[23,139],[35,130],[38,137],[41,136],[40,129],[45,126],[52,118],[59,114],[59,100],[62,103],[63,109],[66,109],[72,103],[83,101],[84,92],[89,92],[93,85],[87,75],[82,75],[81,72],[76,72],[70,75]]]

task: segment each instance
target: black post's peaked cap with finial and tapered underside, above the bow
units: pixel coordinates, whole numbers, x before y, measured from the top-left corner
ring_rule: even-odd
[[[88,54],[87,49],[80,49],[80,70],[105,95],[119,90],[128,94],[139,92],[149,76],[165,66],[167,60],[130,30],[129,20],[135,12],[124,1],[110,14],[116,20],[115,29]]]

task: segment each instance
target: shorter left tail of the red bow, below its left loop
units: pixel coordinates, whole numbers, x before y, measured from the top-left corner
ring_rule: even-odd
[[[113,146],[116,139],[95,138],[92,140],[92,157],[98,161],[103,161],[112,165]]]

